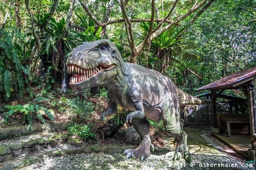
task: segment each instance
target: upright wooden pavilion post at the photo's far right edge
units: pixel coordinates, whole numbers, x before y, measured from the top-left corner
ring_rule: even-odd
[[[255,96],[253,94],[253,88],[254,85],[249,84],[248,85],[248,104],[249,104],[249,117],[250,117],[250,131],[251,131],[251,137],[254,136],[255,133],[255,113],[254,113],[254,107],[255,107]],[[252,150],[254,150],[255,147],[255,142],[254,140],[251,141],[252,144]]]

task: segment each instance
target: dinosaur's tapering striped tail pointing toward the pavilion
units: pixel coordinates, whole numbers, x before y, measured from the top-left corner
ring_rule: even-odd
[[[176,87],[178,94],[178,102],[180,106],[188,105],[188,104],[202,104],[202,105],[215,105],[215,102],[209,100],[203,100],[198,97],[191,96],[186,92],[183,92],[178,87]]]

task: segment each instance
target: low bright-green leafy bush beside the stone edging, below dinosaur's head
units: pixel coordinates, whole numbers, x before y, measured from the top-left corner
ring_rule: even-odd
[[[80,140],[94,140],[96,135],[92,133],[89,125],[79,125],[76,124],[74,126],[68,127],[68,135],[70,136],[78,136]]]

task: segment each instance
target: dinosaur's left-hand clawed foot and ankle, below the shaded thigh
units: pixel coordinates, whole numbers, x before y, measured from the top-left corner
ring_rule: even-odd
[[[149,134],[147,134],[136,149],[127,149],[123,154],[127,154],[126,159],[130,157],[140,157],[140,161],[143,161],[150,156],[150,145],[151,140]]]

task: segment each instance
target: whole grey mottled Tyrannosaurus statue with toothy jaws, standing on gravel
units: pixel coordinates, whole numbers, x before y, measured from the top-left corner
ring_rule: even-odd
[[[186,94],[166,76],[146,69],[137,64],[125,63],[116,46],[109,40],[84,42],[72,50],[66,65],[70,71],[72,65],[82,70],[105,68],[95,71],[90,78],[79,81],[71,80],[70,86],[74,91],[82,91],[94,86],[108,86],[110,107],[101,115],[105,117],[115,114],[117,104],[130,111],[127,122],[131,122],[142,141],[138,148],[124,151],[129,157],[140,157],[141,161],[150,156],[151,139],[149,122],[163,120],[165,130],[175,137],[175,151],[166,154],[190,162],[189,150],[186,144],[187,134],[183,131],[180,121],[179,107],[184,104],[211,104]],[[97,70],[97,69],[96,69]],[[73,72],[73,71],[72,71]],[[96,73],[97,72],[97,73]],[[75,75],[74,78],[79,75]],[[83,76],[83,75],[82,75]]]

